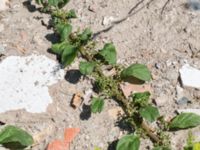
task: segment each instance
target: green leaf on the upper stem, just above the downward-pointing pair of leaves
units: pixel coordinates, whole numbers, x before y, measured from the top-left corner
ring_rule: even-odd
[[[69,35],[72,32],[72,26],[70,24],[58,24],[56,25],[56,31],[60,35],[60,40],[69,40]]]

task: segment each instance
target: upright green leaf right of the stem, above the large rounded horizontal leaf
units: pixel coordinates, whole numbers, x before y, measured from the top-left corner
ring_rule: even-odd
[[[99,51],[99,54],[104,58],[104,60],[110,64],[114,65],[117,61],[117,53],[115,46],[112,43],[107,43],[104,45],[104,48]]]

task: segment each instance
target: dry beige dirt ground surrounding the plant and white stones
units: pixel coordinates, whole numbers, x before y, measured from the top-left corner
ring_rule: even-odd
[[[200,11],[186,7],[185,0],[144,0],[126,20],[114,24],[113,28],[100,32],[112,21],[120,20],[139,2],[138,0],[71,0],[66,9],[75,9],[78,19],[73,21],[74,30],[91,27],[95,39],[112,41],[118,51],[119,63],[128,65],[139,62],[152,71],[152,100],[159,106],[161,114],[175,115],[178,108],[199,108],[199,89],[184,88],[179,80],[179,69],[186,63],[200,69]],[[34,4],[34,2],[32,2]],[[11,0],[10,8],[0,12],[0,49],[5,56],[27,56],[34,52],[56,60],[48,53],[51,41],[56,40],[53,31],[41,24],[48,24],[49,16],[35,10],[30,1]],[[2,27],[3,26],[3,27]],[[37,139],[32,149],[44,150],[55,138],[63,138],[67,127],[79,127],[80,134],[71,145],[72,150],[93,150],[95,146],[106,150],[109,143],[123,135],[109,110],[117,106],[106,101],[105,110],[88,119],[87,108],[74,110],[70,106],[73,94],[91,89],[90,81],[77,73],[78,63],[66,69],[66,79],[51,86],[49,92],[54,100],[46,113],[31,114],[25,110],[0,114],[7,124],[23,127]],[[73,69],[73,70],[72,70]],[[71,71],[69,71],[71,70]],[[181,90],[180,90],[181,89]],[[177,104],[187,97],[189,104]],[[85,107],[84,107],[85,108]],[[199,133],[199,129],[193,129]],[[188,132],[171,133],[173,150],[181,150]],[[141,150],[152,146],[143,140]],[[112,147],[110,148],[112,150]]]

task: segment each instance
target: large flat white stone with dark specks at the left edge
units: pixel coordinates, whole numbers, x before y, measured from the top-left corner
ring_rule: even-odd
[[[44,55],[7,57],[0,63],[0,113],[18,109],[45,112],[52,103],[48,86],[63,78],[64,70]]]

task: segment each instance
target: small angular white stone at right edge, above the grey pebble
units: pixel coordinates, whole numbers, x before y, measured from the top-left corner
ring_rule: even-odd
[[[183,86],[200,88],[200,70],[186,64],[180,69]]]

